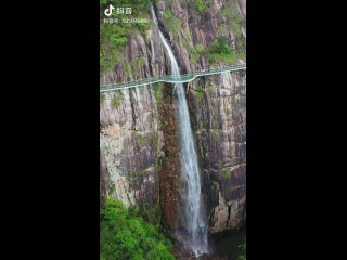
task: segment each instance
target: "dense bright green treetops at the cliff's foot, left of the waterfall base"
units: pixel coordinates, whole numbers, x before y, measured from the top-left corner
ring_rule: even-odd
[[[107,198],[100,211],[101,260],[175,260],[171,243],[157,229]]]

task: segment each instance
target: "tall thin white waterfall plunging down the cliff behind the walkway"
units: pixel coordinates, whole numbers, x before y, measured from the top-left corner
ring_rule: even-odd
[[[158,22],[151,5],[153,21],[158,27]],[[171,61],[172,76],[180,76],[179,66],[174,55],[174,52],[167,41],[165,40],[162,31],[159,30],[160,40]],[[176,93],[178,96],[178,117],[180,130],[180,147],[181,147],[181,177],[184,181],[182,196],[185,198],[184,213],[187,219],[187,232],[189,235],[189,245],[195,256],[208,253],[207,243],[207,224],[203,218],[201,207],[201,180],[200,170],[197,165],[197,157],[194,146],[194,139],[191,129],[191,122],[185,101],[185,94],[182,83],[175,84]]]

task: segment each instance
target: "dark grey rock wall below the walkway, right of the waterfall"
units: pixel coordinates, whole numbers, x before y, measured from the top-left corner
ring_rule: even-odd
[[[245,72],[193,81],[189,105],[210,232],[237,229],[246,217]]]

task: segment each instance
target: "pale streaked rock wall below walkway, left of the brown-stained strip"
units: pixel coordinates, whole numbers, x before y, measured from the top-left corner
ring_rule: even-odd
[[[163,133],[150,87],[110,92],[100,109],[103,195],[127,206],[158,203],[157,157]]]

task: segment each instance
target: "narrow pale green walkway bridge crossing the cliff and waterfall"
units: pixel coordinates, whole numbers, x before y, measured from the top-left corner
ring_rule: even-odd
[[[158,76],[158,77],[152,77],[152,78],[123,82],[123,83],[104,84],[100,87],[100,92],[134,88],[139,86],[145,86],[145,84],[151,84],[156,82],[184,83],[184,82],[190,82],[201,76],[221,74],[226,72],[235,72],[240,69],[246,69],[246,64],[233,65],[233,66],[228,66],[223,68],[204,69],[204,70],[200,70],[191,74],[178,75],[178,76],[172,76],[172,75]]]

